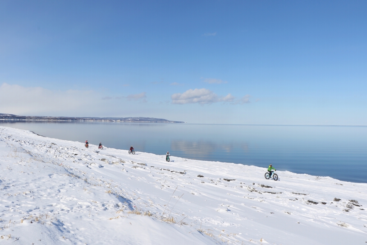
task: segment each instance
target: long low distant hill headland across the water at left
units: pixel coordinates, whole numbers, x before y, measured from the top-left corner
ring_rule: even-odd
[[[0,113],[1,121],[85,121],[85,122],[121,122],[121,123],[185,123],[153,117],[41,117],[17,116]]]

